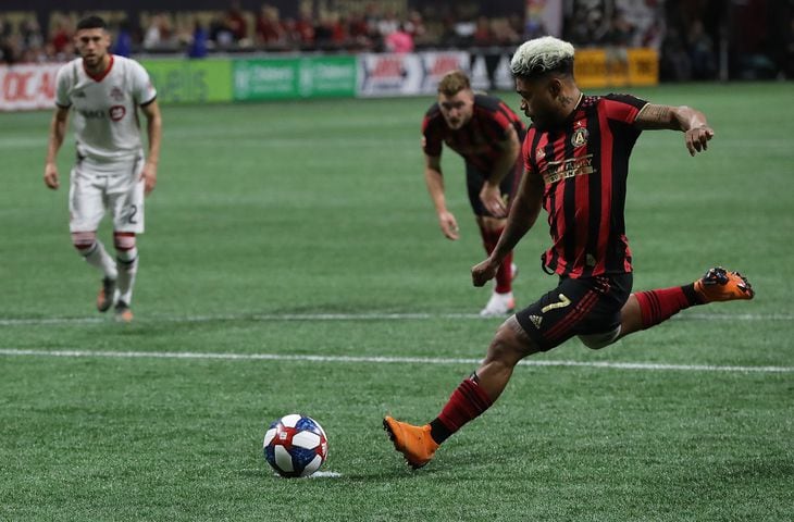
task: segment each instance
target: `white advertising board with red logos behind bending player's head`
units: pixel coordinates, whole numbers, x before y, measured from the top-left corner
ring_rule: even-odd
[[[444,73],[469,70],[469,53],[359,54],[359,96],[429,95]]]

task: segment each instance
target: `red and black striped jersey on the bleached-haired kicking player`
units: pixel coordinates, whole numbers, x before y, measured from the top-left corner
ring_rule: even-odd
[[[583,96],[566,122],[530,127],[522,148],[528,175],[543,178],[553,245],[543,265],[562,276],[632,271],[625,237],[629,156],[647,102],[629,95]]]

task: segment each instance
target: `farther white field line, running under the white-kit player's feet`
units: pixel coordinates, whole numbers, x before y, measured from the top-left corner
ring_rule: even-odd
[[[226,315],[184,315],[139,318],[136,322],[146,323],[211,323],[223,321],[423,321],[431,319],[483,320],[476,313],[261,313]],[[491,318],[493,319],[493,318]],[[677,321],[794,321],[794,315],[785,313],[683,313],[673,318]],[[27,326],[47,324],[94,324],[107,322],[108,318],[0,318],[0,326]]]

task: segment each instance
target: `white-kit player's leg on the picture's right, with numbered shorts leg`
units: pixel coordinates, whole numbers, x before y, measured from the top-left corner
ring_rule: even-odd
[[[139,179],[140,169],[132,166],[131,177],[116,176],[109,189],[108,201],[113,214],[113,243],[119,268],[119,299],[116,319],[133,320],[131,306],[135,276],[138,272],[138,248],[136,238],[144,232],[144,182]]]

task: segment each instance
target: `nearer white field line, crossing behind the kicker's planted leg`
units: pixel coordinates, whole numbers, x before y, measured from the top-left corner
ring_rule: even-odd
[[[480,364],[481,359],[426,358],[426,357],[353,357],[353,356],[290,356],[283,353],[198,353],[191,351],[92,351],[92,350],[30,350],[0,348],[0,356],[32,357],[94,357],[112,359],[215,359],[223,361],[307,361],[307,362],[361,362],[361,363],[420,363],[420,364]],[[734,373],[792,373],[794,366],[717,366],[711,364],[663,364],[655,362],[608,361],[548,361],[524,360],[522,366],[583,366],[616,370],[674,370],[686,372]]]

